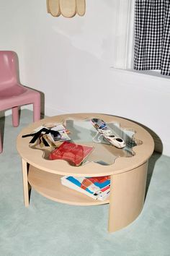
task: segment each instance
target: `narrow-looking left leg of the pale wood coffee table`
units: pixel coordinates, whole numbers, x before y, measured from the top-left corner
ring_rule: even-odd
[[[23,188],[24,188],[24,206],[29,206],[29,192],[30,184],[28,183],[28,163],[22,158],[22,177],[23,177]]]

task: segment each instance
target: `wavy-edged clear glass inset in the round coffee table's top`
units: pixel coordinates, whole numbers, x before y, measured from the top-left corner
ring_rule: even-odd
[[[115,162],[116,158],[133,157],[133,155],[135,155],[133,147],[141,145],[143,143],[141,140],[135,139],[135,130],[131,129],[130,127],[125,129],[123,127],[120,127],[120,124],[117,122],[110,122],[106,124],[107,128],[109,129],[109,131],[111,131],[111,134],[114,135],[114,137],[121,138],[125,142],[124,148],[117,148],[112,145],[108,140],[106,140],[102,133],[99,132],[99,130],[97,130],[94,125],[91,124],[91,119],[66,119],[63,124],[59,124],[66,127],[66,131],[70,139],[68,140],[68,142],[70,143],[69,145],[76,144],[81,146],[81,148],[78,148],[79,153],[80,151],[84,150],[84,146],[93,148],[93,150],[91,150],[87,157],[84,158],[84,161],[81,161],[81,164],[79,164],[79,166],[81,166],[82,164],[88,164],[89,162],[99,163],[100,165],[104,166],[111,165]],[[53,130],[57,125],[58,124],[42,124],[42,127]],[[53,150],[56,150],[56,148],[58,150],[58,147],[60,148],[61,144],[63,143],[63,141],[58,141],[55,143],[52,142],[49,148],[40,146],[40,144],[36,142],[34,145],[30,145],[30,147],[43,150],[43,158],[50,160],[53,159],[49,157],[50,153],[53,152]],[[59,153],[61,154],[61,151]],[[71,155],[71,151],[69,152],[69,155]],[[71,155],[71,157],[73,157],[73,154]],[[70,161],[68,161],[68,163],[73,165],[73,163],[71,163]]]

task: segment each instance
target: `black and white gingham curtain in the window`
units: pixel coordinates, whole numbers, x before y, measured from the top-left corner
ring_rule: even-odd
[[[170,0],[135,0],[134,69],[170,75]]]

